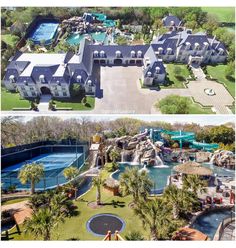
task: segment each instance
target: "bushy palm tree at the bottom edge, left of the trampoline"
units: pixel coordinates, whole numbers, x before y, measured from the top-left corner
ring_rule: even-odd
[[[63,221],[63,215],[54,215],[50,208],[43,207],[33,212],[31,218],[24,221],[24,232],[32,233],[35,238],[42,237],[43,240],[50,240],[52,230]]]

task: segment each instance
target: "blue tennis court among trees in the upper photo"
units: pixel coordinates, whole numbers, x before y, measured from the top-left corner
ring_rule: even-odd
[[[48,45],[55,37],[58,26],[59,24],[55,22],[40,22],[31,32],[29,39],[35,44],[40,44],[41,41],[44,41]]]

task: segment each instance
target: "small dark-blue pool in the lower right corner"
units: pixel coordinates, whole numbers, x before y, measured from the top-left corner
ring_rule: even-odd
[[[216,210],[214,212],[204,213],[196,219],[192,227],[213,239],[220,223],[228,217],[231,217],[230,210]]]

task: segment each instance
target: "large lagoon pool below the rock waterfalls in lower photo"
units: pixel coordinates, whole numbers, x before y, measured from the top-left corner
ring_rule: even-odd
[[[176,163],[167,163],[166,165],[168,165],[168,167],[159,167],[159,168],[158,167],[147,167],[148,174],[154,183],[152,193],[155,193],[155,194],[162,193],[164,188],[167,185],[168,176],[173,175],[175,173],[173,170],[173,167],[177,165]],[[208,168],[211,168],[213,172],[219,176],[230,176],[233,178],[235,176],[234,174],[235,172],[233,170],[227,170],[224,168],[220,168],[220,167],[214,166],[209,163],[202,164],[202,165]],[[142,165],[132,165],[132,163],[120,163],[119,170],[113,173],[112,177],[116,180],[119,180],[120,174],[125,171],[126,167],[131,168],[134,166],[140,169],[142,168]]]

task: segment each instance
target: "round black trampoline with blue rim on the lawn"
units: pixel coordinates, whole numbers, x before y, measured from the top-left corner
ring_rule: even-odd
[[[104,236],[108,231],[114,234],[115,231],[121,232],[125,227],[125,222],[113,214],[97,214],[87,222],[87,230],[96,236]]]

